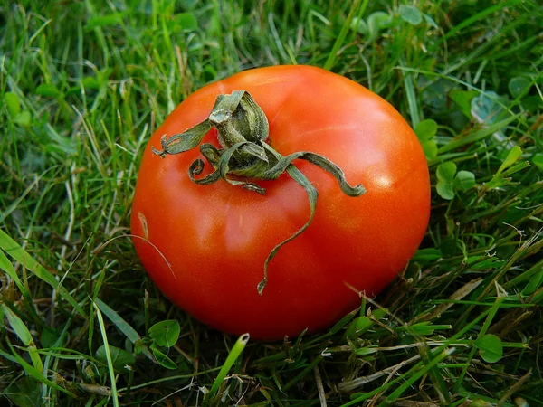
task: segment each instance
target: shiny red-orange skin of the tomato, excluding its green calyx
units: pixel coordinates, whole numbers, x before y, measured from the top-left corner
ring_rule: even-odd
[[[350,185],[367,189],[349,197],[319,167],[294,162],[319,191],[317,210],[271,260],[262,296],[256,286],[264,261],[310,216],[304,189],[288,175],[258,182],[265,195],[223,180],[195,185],[187,170],[202,158],[198,148],[164,159],[151,151],[163,135],[203,121],[216,97],[234,90],[249,91],[263,109],[268,143],[283,156],[318,153]],[[214,130],[203,142],[219,146]],[[329,71],[276,66],[207,85],[167,117],[143,153],[131,229],[144,238],[134,245],[145,269],[177,306],[224,332],[274,340],[329,327],[358,307],[353,289],[367,296],[385,289],[416,251],[429,214],[423,149],[390,104]]]

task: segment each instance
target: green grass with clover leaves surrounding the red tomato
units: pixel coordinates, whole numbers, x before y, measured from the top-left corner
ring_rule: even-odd
[[[405,5],[1,2],[0,404],[543,405],[543,9]],[[389,100],[424,142],[433,211],[386,292],[243,349],[157,292],[129,208],[169,111],[280,63]]]

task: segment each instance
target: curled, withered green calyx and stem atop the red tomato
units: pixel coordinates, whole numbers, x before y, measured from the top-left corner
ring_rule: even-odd
[[[222,148],[214,147],[208,143],[200,145],[202,138],[211,128],[216,128],[217,138]],[[270,261],[285,243],[296,238],[310,226],[315,215],[317,189],[292,164],[295,159],[309,161],[328,171],[338,180],[341,191],[348,196],[356,197],[366,192],[366,188],[362,185],[349,185],[341,168],[324,156],[307,151],[281,156],[266,143],[268,135],[268,119],[260,106],[246,90],[236,90],[230,95],[218,96],[209,117],[203,122],[172,137],[164,135],[160,140],[161,151],[152,147],[153,153],[164,158],[168,154],[183,153],[199,145],[202,156],[213,166],[214,172],[203,178],[196,178],[204,170],[205,163],[201,159],[195,160],[188,169],[188,176],[198,185],[213,184],[223,179],[231,185],[238,185],[258,194],[265,194],[265,189],[253,181],[277,179],[286,172],[305,189],[310,200],[310,218],[291,237],[275,246],[268,255],[264,262],[263,279],[257,286],[260,295],[262,295],[268,281]]]

